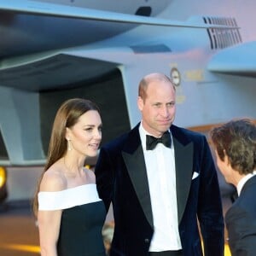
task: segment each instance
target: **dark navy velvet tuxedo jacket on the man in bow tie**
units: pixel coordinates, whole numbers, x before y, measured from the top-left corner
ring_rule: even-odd
[[[103,146],[96,164],[96,184],[109,207],[113,202],[114,235],[111,255],[144,256],[154,224],[139,124]],[[224,219],[218,177],[206,137],[171,127],[177,177],[177,215],[184,256],[224,254]],[[192,180],[193,173],[199,175]]]

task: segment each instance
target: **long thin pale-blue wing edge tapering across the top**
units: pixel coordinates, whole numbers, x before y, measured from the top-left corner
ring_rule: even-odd
[[[43,3],[38,1],[2,0],[0,3],[0,10],[1,9],[5,11],[28,13],[35,15],[47,15],[86,20],[103,20],[121,23],[131,23],[137,25],[176,26],[191,28],[230,28],[230,26],[227,25],[201,24],[200,22],[166,20],[154,17],[145,17],[140,15],[127,15],[110,11],[79,8],[69,5]],[[237,27],[233,26],[232,28],[235,29]]]

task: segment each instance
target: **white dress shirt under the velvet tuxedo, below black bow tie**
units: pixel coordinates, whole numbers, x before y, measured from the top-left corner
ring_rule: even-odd
[[[178,232],[177,195],[174,148],[158,143],[154,150],[146,150],[147,131],[139,127],[145,158],[149,193],[154,220],[154,236],[149,252],[182,248]],[[150,135],[150,134],[148,134]],[[172,137],[171,133],[170,136]]]

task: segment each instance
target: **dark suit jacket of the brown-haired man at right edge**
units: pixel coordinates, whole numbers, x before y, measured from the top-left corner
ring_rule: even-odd
[[[232,256],[256,255],[256,176],[241,189],[241,195],[226,212],[225,222],[229,233]]]

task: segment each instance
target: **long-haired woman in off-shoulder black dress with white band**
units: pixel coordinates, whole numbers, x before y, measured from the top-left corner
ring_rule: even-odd
[[[94,102],[74,98],[61,105],[33,204],[42,256],[105,255],[106,211],[95,174],[84,167],[101,140],[102,119]]]

